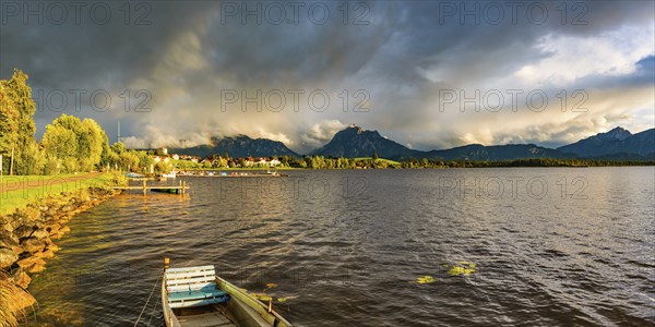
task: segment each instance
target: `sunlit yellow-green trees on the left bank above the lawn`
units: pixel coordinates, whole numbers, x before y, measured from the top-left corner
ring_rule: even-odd
[[[14,70],[0,81],[0,155],[3,174],[56,174],[100,170],[144,171],[170,169],[155,165],[145,152],[109,145],[103,128],[93,119],[61,114],[46,125],[41,142],[34,137],[36,105],[27,74]]]

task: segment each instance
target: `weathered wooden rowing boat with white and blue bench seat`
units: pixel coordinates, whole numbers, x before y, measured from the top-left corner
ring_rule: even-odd
[[[167,327],[257,326],[291,324],[245,290],[217,277],[214,266],[168,268],[162,281],[162,310]]]

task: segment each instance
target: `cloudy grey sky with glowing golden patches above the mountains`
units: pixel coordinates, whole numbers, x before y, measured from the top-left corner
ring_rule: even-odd
[[[350,123],[417,149],[655,125],[653,1],[55,3],[0,3],[0,76],[29,75],[37,137],[61,112],[130,146],[299,153]]]

